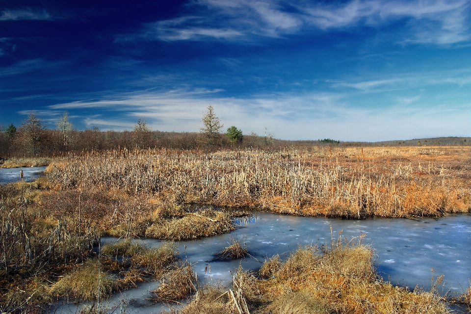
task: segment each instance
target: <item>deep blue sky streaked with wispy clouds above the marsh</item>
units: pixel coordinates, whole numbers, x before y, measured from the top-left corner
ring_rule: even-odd
[[[137,3],[136,3],[137,2]],[[0,124],[471,136],[471,2],[0,0]]]

